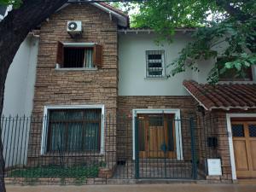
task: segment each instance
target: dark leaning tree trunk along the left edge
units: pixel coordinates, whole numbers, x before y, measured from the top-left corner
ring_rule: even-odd
[[[4,84],[9,67],[28,32],[52,15],[67,0],[23,0],[19,9],[0,22],[0,115],[3,112]],[[4,187],[3,143],[0,142],[0,191]]]

